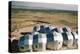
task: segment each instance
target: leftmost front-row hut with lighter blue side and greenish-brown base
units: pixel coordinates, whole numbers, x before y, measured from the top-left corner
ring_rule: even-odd
[[[32,51],[32,34],[31,33],[22,33],[24,34],[20,37],[18,41],[18,47],[20,52]]]

